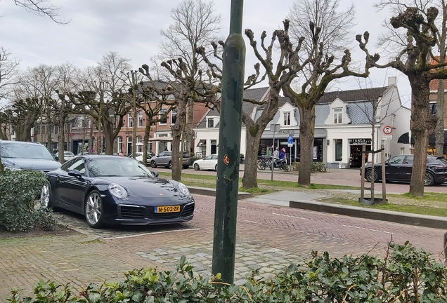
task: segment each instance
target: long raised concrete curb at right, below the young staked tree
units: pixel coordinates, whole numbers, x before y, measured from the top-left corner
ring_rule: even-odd
[[[356,206],[343,206],[317,201],[290,201],[290,208],[313,210],[323,213],[346,215],[364,219],[388,221],[400,224],[430,227],[435,229],[447,229],[447,217],[435,217],[430,215],[415,215],[400,213],[390,210],[372,210]]]

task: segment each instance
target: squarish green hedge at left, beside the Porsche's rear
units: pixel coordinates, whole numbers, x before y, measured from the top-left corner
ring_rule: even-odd
[[[4,170],[0,174],[0,228],[7,231],[51,229],[56,221],[51,209],[37,198],[47,182],[44,174],[30,170]]]

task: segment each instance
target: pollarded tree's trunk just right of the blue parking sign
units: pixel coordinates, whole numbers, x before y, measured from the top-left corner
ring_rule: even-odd
[[[299,173],[298,184],[311,184],[311,166],[313,163],[313,137],[315,128],[315,106],[299,109]]]

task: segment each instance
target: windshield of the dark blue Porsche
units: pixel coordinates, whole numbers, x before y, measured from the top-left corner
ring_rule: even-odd
[[[155,177],[142,163],[129,158],[98,158],[87,163],[91,177]]]

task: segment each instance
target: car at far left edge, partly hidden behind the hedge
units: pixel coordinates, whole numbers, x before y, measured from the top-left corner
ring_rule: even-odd
[[[41,170],[48,172],[60,163],[39,142],[0,140],[1,163],[10,170]]]

